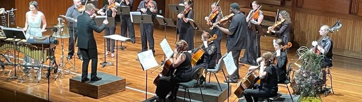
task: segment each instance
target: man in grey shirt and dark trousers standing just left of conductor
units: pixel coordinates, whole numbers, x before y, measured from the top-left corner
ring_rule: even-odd
[[[69,36],[70,36],[69,43],[68,43],[68,56],[66,57],[67,60],[71,59],[74,54],[74,42],[77,42],[77,38],[78,38],[77,18],[79,15],[81,15],[80,11],[78,11],[78,8],[82,5],[82,3],[80,2],[80,0],[73,0],[73,3],[74,4],[72,6],[70,6],[68,8],[68,10],[66,10],[66,16],[74,19],[74,21],[70,20],[70,19],[66,19],[69,21],[68,32],[69,32]],[[74,33],[73,33],[73,31],[74,31]],[[75,38],[73,38],[73,37],[75,37]],[[79,48],[78,48],[77,55],[80,60],[83,60],[82,55],[80,54]]]

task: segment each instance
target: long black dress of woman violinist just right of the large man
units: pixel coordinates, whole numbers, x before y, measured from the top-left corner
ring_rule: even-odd
[[[263,15],[263,11],[260,10],[259,15]],[[256,21],[258,22],[258,19]],[[246,34],[247,45],[240,63],[256,66],[257,58],[260,57],[260,35],[256,34],[250,25],[249,22]]]

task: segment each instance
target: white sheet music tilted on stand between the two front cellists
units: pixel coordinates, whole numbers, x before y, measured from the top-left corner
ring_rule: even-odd
[[[236,66],[234,63],[234,59],[232,58],[231,51],[226,55],[223,60],[226,66],[226,71],[228,71],[229,75],[232,75],[236,71]]]

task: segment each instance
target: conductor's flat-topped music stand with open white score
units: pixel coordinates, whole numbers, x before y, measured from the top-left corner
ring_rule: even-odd
[[[108,35],[108,36],[103,36],[103,37],[115,40],[116,46],[118,46],[118,41],[121,41],[121,44],[122,44],[122,41],[130,40],[130,38],[126,38],[126,37],[123,37],[118,34],[113,34],[113,35]],[[116,49],[116,76],[118,76],[118,49]]]

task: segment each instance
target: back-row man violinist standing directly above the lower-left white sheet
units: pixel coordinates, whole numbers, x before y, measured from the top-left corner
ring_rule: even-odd
[[[151,1],[151,2],[150,2]],[[142,14],[151,15],[151,20],[155,19],[157,14],[157,3],[154,0],[142,0],[137,8],[137,11]],[[152,50],[153,54],[155,54],[155,39],[153,38],[153,23],[151,24],[143,24],[143,31],[141,34],[141,43],[142,43],[142,51],[147,51],[147,41],[148,46]],[[141,26],[140,26],[141,29]],[[142,29],[141,29],[142,30]]]

